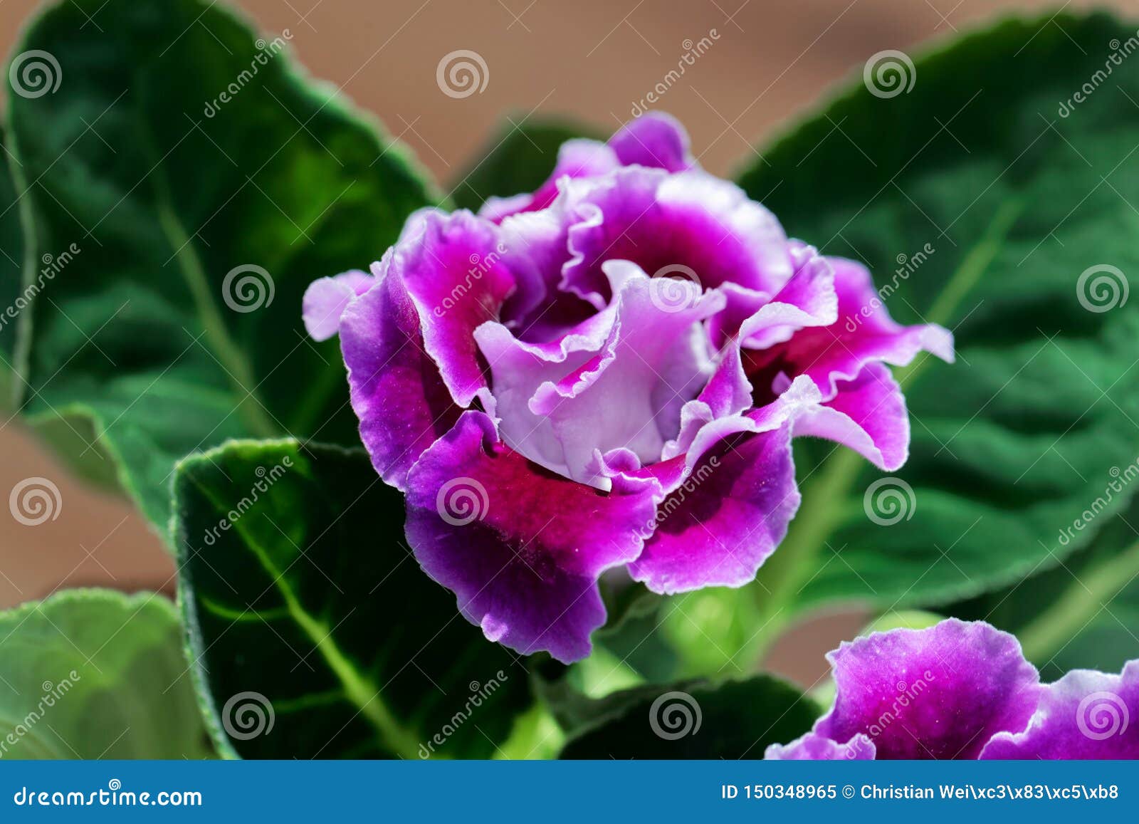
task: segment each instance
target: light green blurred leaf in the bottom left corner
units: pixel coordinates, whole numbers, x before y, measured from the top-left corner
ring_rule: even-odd
[[[0,614],[0,757],[212,756],[165,597],[69,589]]]

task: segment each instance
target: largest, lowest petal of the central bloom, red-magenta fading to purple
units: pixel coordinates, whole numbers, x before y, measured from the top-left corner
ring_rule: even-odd
[[[407,535],[487,638],[568,663],[589,654],[605,622],[597,578],[640,553],[657,490],[617,473],[603,493],[546,473],[467,411],[411,470]]]

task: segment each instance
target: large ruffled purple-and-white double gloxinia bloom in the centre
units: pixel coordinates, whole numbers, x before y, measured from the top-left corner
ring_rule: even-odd
[[[899,467],[888,365],[952,359],[663,115],[568,141],[534,194],[417,212],[370,275],[313,283],[304,321],[341,335],[427,574],[487,638],[566,662],[605,621],[608,569],[665,594],[751,581],[798,507],[792,437]]]

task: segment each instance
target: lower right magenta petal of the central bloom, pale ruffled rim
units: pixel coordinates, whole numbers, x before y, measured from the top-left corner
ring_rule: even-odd
[[[683,459],[642,471],[667,496],[633,580],[665,595],[751,582],[798,509],[790,422],[818,398],[800,378],[768,407],[705,426]]]

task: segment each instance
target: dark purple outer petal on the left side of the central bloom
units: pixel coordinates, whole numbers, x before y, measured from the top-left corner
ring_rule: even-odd
[[[345,310],[341,349],[352,409],[371,463],[404,489],[408,470],[449,431],[460,409],[423,349],[419,315],[399,278],[377,267],[377,284]]]

